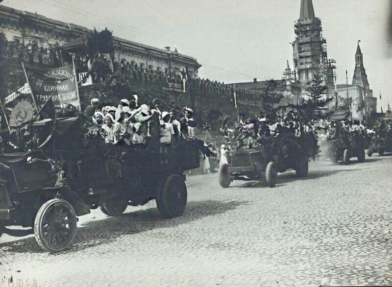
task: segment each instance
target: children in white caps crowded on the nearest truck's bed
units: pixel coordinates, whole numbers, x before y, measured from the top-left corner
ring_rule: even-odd
[[[116,106],[102,106],[98,98],[91,100],[84,114],[100,126],[106,144],[144,147],[152,130],[159,128],[159,142],[164,147],[179,139],[195,138],[193,110],[184,107],[182,115],[175,109],[161,111],[157,103],[137,105],[138,97],[122,99]]]

